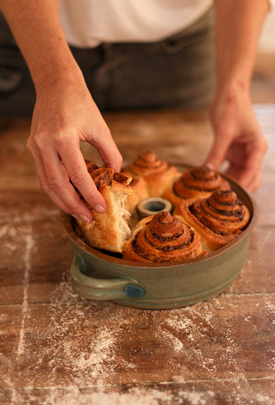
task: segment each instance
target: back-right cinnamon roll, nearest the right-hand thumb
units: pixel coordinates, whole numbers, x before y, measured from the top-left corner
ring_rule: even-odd
[[[170,184],[163,197],[169,199],[174,207],[183,198],[206,198],[217,189],[230,189],[229,183],[207,166],[196,166],[186,170]]]

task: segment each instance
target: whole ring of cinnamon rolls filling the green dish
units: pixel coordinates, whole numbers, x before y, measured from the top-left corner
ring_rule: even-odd
[[[88,245],[123,253],[124,259],[168,262],[201,256],[228,244],[250,220],[249,210],[228,182],[206,166],[182,174],[151,152],[141,153],[128,173],[114,173],[88,160],[86,165],[107,210],[99,214],[85,201],[93,221],[77,219],[78,234]],[[150,195],[170,200],[176,206],[173,216],[162,212],[137,224],[136,205]]]

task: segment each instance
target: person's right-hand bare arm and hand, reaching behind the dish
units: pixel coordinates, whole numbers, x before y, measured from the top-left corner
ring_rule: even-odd
[[[228,159],[228,174],[254,191],[267,148],[252,110],[250,82],[257,41],[268,12],[267,0],[216,0],[216,92],[210,109],[215,140],[206,165],[218,169]]]

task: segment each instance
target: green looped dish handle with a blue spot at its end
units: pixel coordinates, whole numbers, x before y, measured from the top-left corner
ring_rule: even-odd
[[[140,298],[145,294],[138,281],[129,278],[94,278],[81,272],[84,268],[84,259],[74,254],[70,266],[70,275],[73,290],[84,298],[90,300],[114,300],[121,298]]]

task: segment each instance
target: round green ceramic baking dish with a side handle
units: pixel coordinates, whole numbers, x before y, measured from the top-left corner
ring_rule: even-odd
[[[99,252],[80,239],[73,218],[61,218],[73,252],[73,290],[90,300],[111,300],[138,308],[177,308],[206,300],[227,289],[246,260],[258,208],[253,197],[230,177],[232,190],[251,213],[247,228],[228,245],[205,257],[182,263],[138,263]]]

